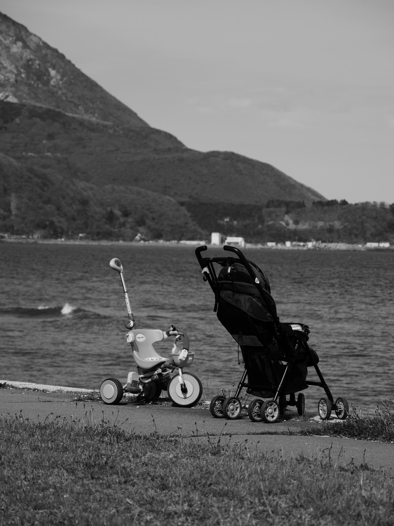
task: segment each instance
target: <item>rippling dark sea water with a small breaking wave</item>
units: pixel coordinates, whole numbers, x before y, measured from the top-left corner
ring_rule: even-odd
[[[205,254],[225,254],[221,248]],[[362,409],[394,391],[394,252],[247,249],[281,321],[306,323],[334,399]],[[194,249],[153,245],[0,244],[0,381],[98,388],[136,370],[126,342],[120,258],[137,328],[188,333],[204,396],[235,392],[243,364],[213,312]],[[170,356],[171,342],[158,350]],[[317,379],[309,368],[308,379]],[[304,391],[316,410],[323,389]]]

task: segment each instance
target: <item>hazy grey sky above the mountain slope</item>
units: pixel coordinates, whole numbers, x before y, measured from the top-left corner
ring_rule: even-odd
[[[393,0],[0,0],[149,125],[394,202]]]

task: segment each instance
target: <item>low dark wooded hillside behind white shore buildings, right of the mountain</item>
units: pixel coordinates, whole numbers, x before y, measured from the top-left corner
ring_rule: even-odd
[[[269,201],[257,205],[186,203],[192,219],[208,231],[243,236],[250,242],[311,241],[394,244],[394,203],[357,203],[345,200]]]

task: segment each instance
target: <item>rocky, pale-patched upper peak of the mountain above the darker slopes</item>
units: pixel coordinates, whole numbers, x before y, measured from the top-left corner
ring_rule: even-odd
[[[57,49],[0,13],[0,98],[57,108],[88,120],[148,127]]]

